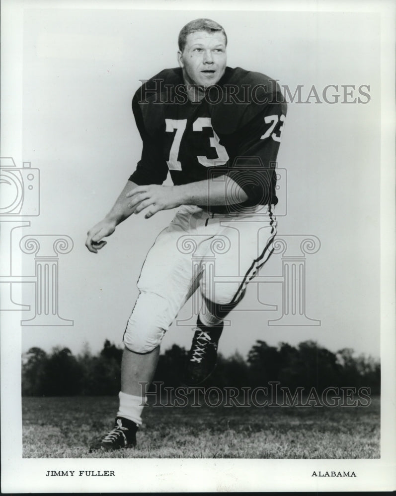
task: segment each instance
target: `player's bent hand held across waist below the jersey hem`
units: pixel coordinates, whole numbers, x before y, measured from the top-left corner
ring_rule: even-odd
[[[152,217],[159,210],[168,210],[182,204],[177,186],[137,186],[127,193],[127,197],[131,198],[128,206],[134,209],[135,214],[147,209],[146,219]]]

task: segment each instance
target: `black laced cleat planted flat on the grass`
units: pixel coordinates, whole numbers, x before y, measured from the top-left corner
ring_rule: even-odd
[[[138,426],[132,420],[116,417],[114,427],[89,447],[89,453],[98,449],[113,451],[120,448],[134,448],[136,446],[136,432]]]

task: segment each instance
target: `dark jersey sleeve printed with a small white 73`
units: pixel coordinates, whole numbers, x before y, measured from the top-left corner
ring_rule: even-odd
[[[246,206],[277,203],[275,166],[286,112],[285,102],[268,103],[241,131],[227,175],[247,194]]]

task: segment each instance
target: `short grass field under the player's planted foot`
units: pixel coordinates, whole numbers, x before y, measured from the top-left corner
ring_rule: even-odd
[[[88,453],[117,397],[22,398],[25,458],[379,458],[380,399],[368,407],[145,408],[136,449]]]

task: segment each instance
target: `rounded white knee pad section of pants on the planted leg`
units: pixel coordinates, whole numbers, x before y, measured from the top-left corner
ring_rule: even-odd
[[[170,324],[166,299],[155,293],[142,292],[128,319],[123,343],[135,353],[149,353],[161,343]]]

